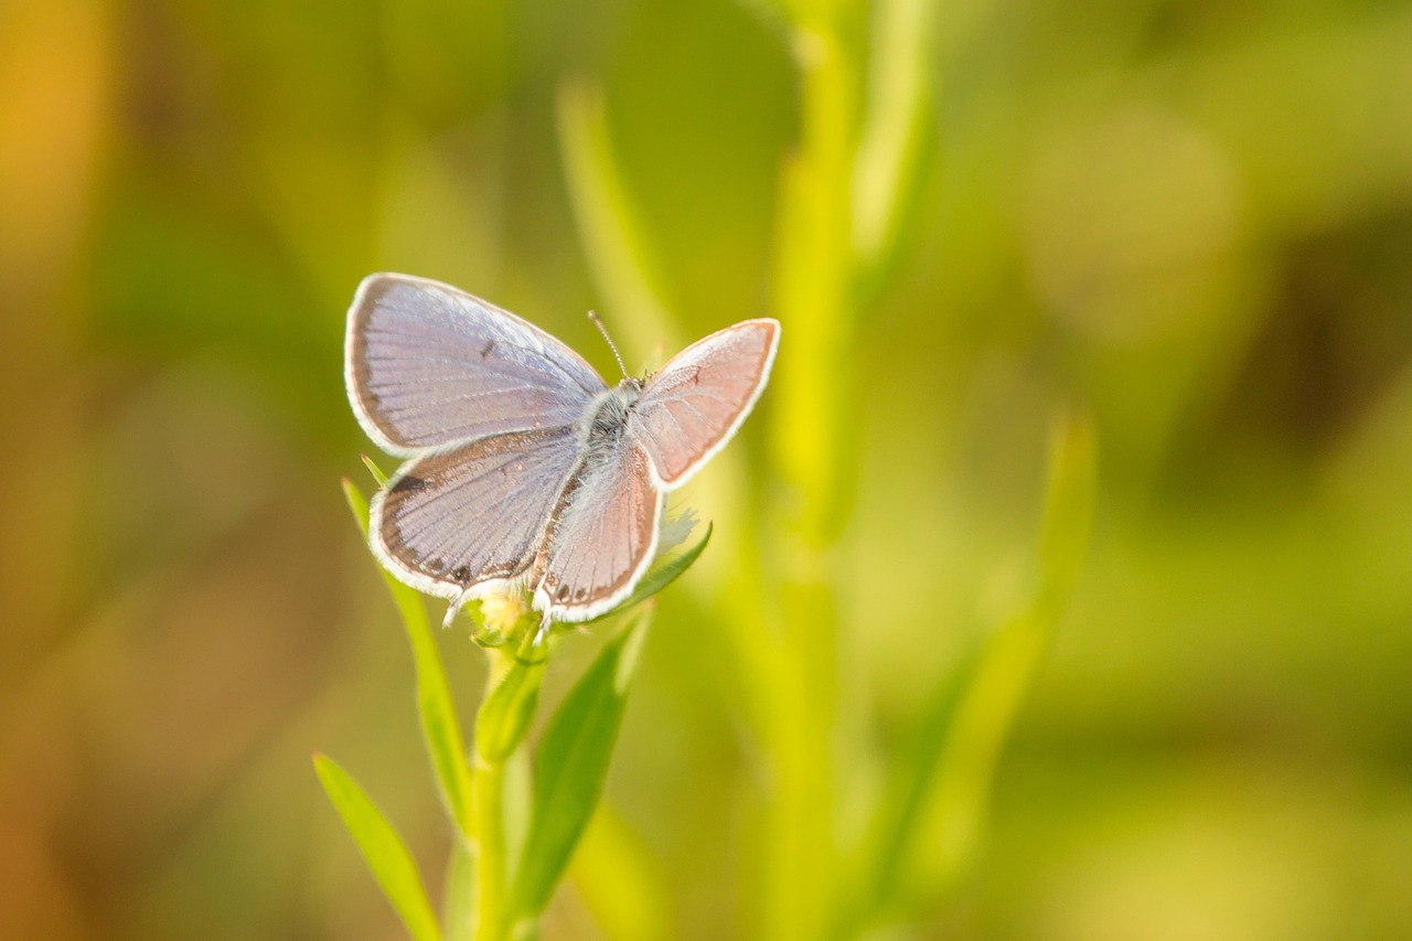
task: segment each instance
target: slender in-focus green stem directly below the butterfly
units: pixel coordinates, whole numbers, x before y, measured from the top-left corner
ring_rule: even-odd
[[[490,675],[486,698],[514,663],[514,651],[489,647]],[[476,848],[476,938],[497,941],[504,937],[508,918],[508,853],[505,848],[505,763],[489,762],[473,750],[472,762],[472,841]]]

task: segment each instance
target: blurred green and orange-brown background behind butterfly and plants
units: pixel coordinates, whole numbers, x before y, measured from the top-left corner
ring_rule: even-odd
[[[630,365],[771,314],[801,120],[772,17],[0,4],[0,935],[398,937],[308,762],[337,754],[439,877],[409,657],[337,486],[370,486],[353,288],[450,281],[604,374],[590,307]],[[1409,51],[1394,0],[938,4],[905,250],[823,415],[867,706],[842,763],[885,769],[1005,613],[1056,411],[1091,414],[1101,470],[987,838],[898,937],[1412,937]],[[602,89],[669,336],[590,274],[563,88]],[[731,446],[748,479],[772,407]],[[724,475],[681,496],[740,513]],[[768,786],[719,653],[740,538],[664,596],[607,787],[642,904],[690,938],[748,923],[740,807]],[[479,653],[443,641],[473,704]],[[602,937],[587,894],[546,937]]]

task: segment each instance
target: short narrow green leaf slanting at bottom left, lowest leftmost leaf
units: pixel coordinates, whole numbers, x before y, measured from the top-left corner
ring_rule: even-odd
[[[438,941],[442,935],[421,873],[397,829],[333,759],[315,754],[313,770],[408,934],[417,941]]]

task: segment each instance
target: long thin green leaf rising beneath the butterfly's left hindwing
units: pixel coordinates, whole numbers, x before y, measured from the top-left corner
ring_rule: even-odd
[[[347,479],[343,480],[343,495],[366,538],[367,500]],[[407,640],[412,646],[412,661],[417,667],[417,711],[442,801],[462,834],[474,832],[470,827],[470,769],[466,764],[465,739],[460,735],[460,722],[456,719],[456,706],[450,698],[441,651],[426,620],[426,608],[417,591],[393,578],[381,565],[378,569],[388,591],[393,592],[393,600],[407,629]]]

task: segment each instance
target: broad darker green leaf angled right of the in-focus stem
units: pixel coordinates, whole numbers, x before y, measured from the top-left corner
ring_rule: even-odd
[[[635,613],[603,646],[597,660],[565,697],[539,742],[534,815],[511,911],[515,920],[544,910],[593,814],[617,740],[648,612]]]

